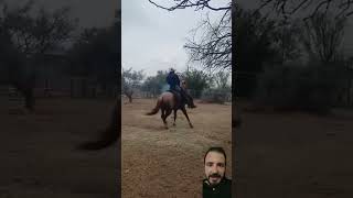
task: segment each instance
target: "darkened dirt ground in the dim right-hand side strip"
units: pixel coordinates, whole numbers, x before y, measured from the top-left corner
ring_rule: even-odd
[[[329,117],[243,112],[242,119],[233,136],[237,197],[353,197],[352,109]]]

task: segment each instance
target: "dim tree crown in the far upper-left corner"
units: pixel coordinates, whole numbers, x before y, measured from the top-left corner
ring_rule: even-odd
[[[23,7],[9,10],[2,6],[1,25],[9,31],[18,50],[25,55],[43,54],[58,47],[72,37],[76,20],[72,20],[69,8],[60,8],[53,12],[41,8],[32,14],[33,1]]]

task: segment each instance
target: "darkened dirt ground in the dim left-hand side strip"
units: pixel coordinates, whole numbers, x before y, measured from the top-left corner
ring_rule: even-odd
[[[39,99],[36,112],[0,102],[1,198],[117,197],[117,147],[75,147],[104,129],[115,101]],[[17,114],[18,113],[18,114]],[[119,153],[118,153],[119,154]]]

